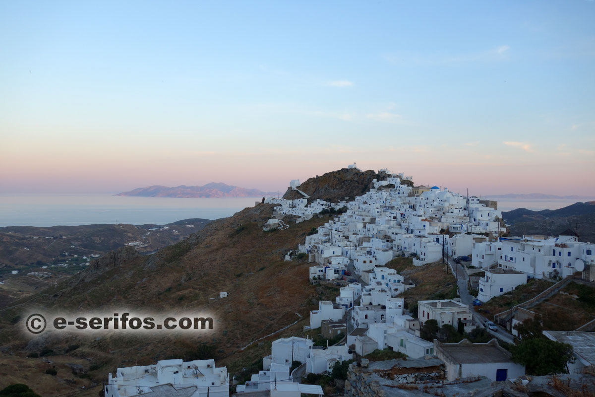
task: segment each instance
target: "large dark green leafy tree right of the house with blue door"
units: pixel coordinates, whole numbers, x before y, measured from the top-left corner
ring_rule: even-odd
[[[566,364],[574,362],[571,345],[540,337],[523,340],[511,352],[512,361],[533,376],[567,373]]]

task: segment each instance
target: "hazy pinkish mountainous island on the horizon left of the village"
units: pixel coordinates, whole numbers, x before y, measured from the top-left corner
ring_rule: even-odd
[[[218,197],[264,197],[267,193],[258,189],[230,186],[225,183],[211,182],[205,186],[148,186],[139,187],[130,192],[118,193],[114,196],[140,196],[140,197],[175,197],[175,198],[218,198]]]

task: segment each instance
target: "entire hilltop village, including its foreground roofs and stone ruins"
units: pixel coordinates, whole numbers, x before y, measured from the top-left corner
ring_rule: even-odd
[[[518,342],[509,332],[521,337],[519,324],[532,321],[535,313],[519,305],[496,316],[494,324],[474,306],[531,279],[550,280],[554,283],[550,289],[565,285],[571,277],[595,282],[595,271],[589,271],[595,245],[578,242],[571,230],[555,237],[505,237],[496,202],[446,187],[415,186],[411,176],[381,171],[386,179],[373,180],[373,187],[352,201],[312,200],[300,190],[298,180],[290,188],[302,198],[263,200],[275,206],[265,231],[284,230],[292,222],[321,215],[332,217],[286,255],[287,261],[308,258],[311,283],[340,286],[334,301],[319,301],[318,310],[310,312],[306,337],[275,340],[271,354],[262,359],[262,370],[245,383],[232,378],[230,385],[226,368],[215,367],[213,360],[162,360],[146,367],[118,368],[115,376],[109,374],[105,396],[221,397],[228,395],[229,386],[235,386],[238,397],[323,395],[320,385],[300,379],[312,374],[336,376],[341,368],[347,368],[343,382],[349,397],[526,396],[530,391],[558,395],[549,394],[551,379],[525,376],[526,366],[513,361],[502,346]],[[403,257],[411,258],[415,267],[443,261],[458,277],[459,296],[418,301],[413,311],[406,308],[402,293],[417,286],[385,266]],[[468,262],[468,270],[460,262]],[[476,298],[467,289],[471,269],[481,272]],[[465,336],[483,333],[487,339],[474,343],[465,337],[443,343],[428,337],[433,327],[434,335],[442,329]],[[588,376],[585,368],[595,364],[595,336],[587,332],[590,329],[543,331],[547,339],[574,348],[574,360],[563,371],[568,373],[564,380],[569,388],[580,387]],[[307,336],[312,330],[320,331],[325,345]],[[390,360],[366,358],[378,354]]]

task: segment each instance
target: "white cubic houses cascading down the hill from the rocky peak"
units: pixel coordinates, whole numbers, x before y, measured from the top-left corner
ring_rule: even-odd
[[[354,352],[365,356],[376,349],[392,349],[411,358],[436,356],[446,363],[449,380],[471,375],[506,380],[525,373],[496,340],[447,344],[421,339],[420,329],[430,319],[439,326],[462,323],[466,332],[477,324],[468,305],[453,299],[419,301],[417,318],[406,314],[399,295],[415,285],[384,267],[395,257],[412,255],[419,266],[444,254],[471,256],[471,264],[483,270],[478,290],[481,301],[502,295],[530,277],[565,277],[588,271],[591,264],[595,268],[595,245],[578,242],[574,233],[565,232],[557,238],[503,238],[502,213],[491,207],[495,203],[437,186],[402,185],[412,177],[383,171],[389,175],[386,180],[375,180],[373,189],[350,202],[316,200],[308,204],[308,195],[299,190],[299,180],[293,180],[291,187],[304,198],[267,199],[277,207],[275,219],[265,224],[265,230],[289,227],[281,220],[285,215],[293,215],[300,222],[324,210],[337,211],[333,220],[306,237],[298,251],[316,262],[309,270],[312,282],[343,279],[349,283],[340,288],[334,302],[319,302],[306,329],[320,327],[329,339],[339,333],[345,333],[346,338],[334,346],[316,346],[307,337],[275,340],[271,354],[263,359],[262,370],[244,385],[237,385],[237,395],[322,395],[320,386],[293,382],[290,368],[294,362],[305,364],[307,373],[324,373],[336,362],[352,360]],[[585,278],[595,281],[594,277],[595,271]],[[581,365],[593,365],[593,333],[573,334],[581,343],[577,355]],[[568,335],[546,334],[550,339],[571,338]],[[223,397],[228,396],[228,387],[227,369],[216,368],[213,360],[164,360],[145,367],[118,368],[115,376],[109,374],[105,396],[173,395],[185,390],[184,396]]]

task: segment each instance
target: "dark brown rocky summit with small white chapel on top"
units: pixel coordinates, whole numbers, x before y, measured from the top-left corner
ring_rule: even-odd
[[[342,168],[338,171],[331,171],[322,176],[310,178],[298,187],[299,190],[310,196],[309,200],[321,199],[329,202],[339,202],[349,198],[354,199],[361,196],[371,187],[374,187],[372,180],[386,178],[386,173],[377,173],[374,170],[359,171],[355,168]],[[409,181],[408,181],[409,182]],[[295,200],[303,196],[292,190],[291,187],[283,195],[284,199]]]

